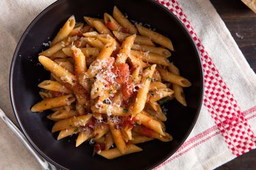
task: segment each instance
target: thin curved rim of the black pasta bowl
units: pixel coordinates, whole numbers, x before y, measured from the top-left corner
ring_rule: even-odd
[[[44,154],[44,152],[42,152],[38,146],[36,146],[35,143],[33,143],[33,141],[31,140],[31,138],[29,137],[29,135],[27,134],[25,128],[23,127],[23,124],[20,122],[20,117],[18,114],[18,111],[16,109],[16,104],[14,101],[14,89],[13,89],[13,73],[14,73],[14,65],[16,63],[16,58],[18,56],[18,51],[20,50],[20,46],[23,43],[27,33],[30,31],[31,27],[33,27],[33,25],[38,22],[38,20],[44,15],[46,14],[49,10],[51,10],[53,7],[59,5],[59,3],[61,3],[61,1],[64,0],[57,0],[54,3],[51,3],[51,5],[48,5],[48,7],[46,7],[44,10],[42,10],[42,12],[40,12],[40,14],[38,14],[28,25],[28,27],[25,29],[23,35],[21,35],[18,44],[14,50],[14,54],[12,57],[12,63],[11,63],[11,67],[10,67],[10,75],[9,75],[9,92],[10,92],[10,100],[11,100],[11,104],[12,104],[12,110],[14,112],[14,116],[16,118],[16,121],[18,122],[18,126],[20,127],[21,131],[23,132],[23,134],[25,135],[27,141],[29,141],[30,145],[33,147],[33,149],[35,150],[35,152],[38,152],[38,154],[40,154],[40,156],[42,156],[43,158],[45,158],[49,163],[51,163],[52,165],[54,165],[55,167],[58,167],[59,169],[67,169],[66,167],[63,167],[62,165],[59,165],[58,163],[56,163],[54,160],[52,160],[51,158],[49,158],[48,156],[46,156],[46,154]],[[169,16],[171,16],[172,18],[175,18],[175,22],[177,22],[177,24],[180,25],[180,27],[182,27],[182,31],[184,31],[184,33],[186,34],[186,36],[188,36],[188,39],[191,43],[191,45],[193,46],[193,49],[195,50],[196,56],[197,56],[197,60],[199,61],[199,77],[201,79],[201,88],[199,90],[200,92],[200,96],[199,96],[199,106],[197,107],[197,111],[195,114],[195,118],[192,122],[192,124],[190,125],[188,131],[186,132],[186,135],[182,138],[182,140],[180,141],[180,144],[177,146],[177,148],[175,148],[172,152],[169,152],[169,154],[167,154],[166,156],[164,156],[164,158],[162,160],[158,160],[158,163],[156,163],[155,165],[153,165],[152,167],[145,167],[147,169],[153,169],[155,167],[157,167],[158,165],[162,164],[165,162],[165,160],[167,160],[170,156],[172,156],[179,148],[180,146],[182,146],[182,144],[184,143],[184,141],[186,141],[186,139],[188,138],[188,135],[190,135],[191,131],[193,130],[195,123],[197,122],[197,119],[199,117],[200,111],[201,111],[201,106],[203,104],[203,94],[204,94],[204,82],[203,82],[203,67],[202,67],[202,63],[201,63],[201,58],[200,58],[200,53],[199,50],[195,44],[195,41],[193,39],[193,37],[190,35],[188,29],[185,27],[185,25],[182,23],[182,21],[177,18],[177,16],[175,16],[175,14],[173,14],[173,12],[171,12],[169,9],[167,9],[167,7],[164,7],[164,5],[158,3],[155,0],[146,0],[150,3],[153,3],[156,7],[160,8],[162,11],[167,12],[167,14],[169,14]]]

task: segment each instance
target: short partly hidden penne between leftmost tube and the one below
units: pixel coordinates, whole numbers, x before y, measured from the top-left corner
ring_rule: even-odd
[[[47,118],[50,120],[58,121],[61,119],[71,118],[72,116],[76,116],[76,112],[74,110],[67,111],[65,109],[60,109],[53,114],[49,114]]]

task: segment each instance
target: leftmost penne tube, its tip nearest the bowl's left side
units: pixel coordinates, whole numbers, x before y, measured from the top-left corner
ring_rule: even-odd
[[[65,95],[55,98],[45,98],[42,101],[36,103],[31,107],[31,112],[43,112],[46,109],[52,109],[54,107],[61,107],[63,105],[70,105],[76,101],[72,95]]]

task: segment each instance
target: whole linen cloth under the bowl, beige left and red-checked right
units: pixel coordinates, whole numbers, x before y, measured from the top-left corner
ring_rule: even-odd
[[[201,53],[205,95],[199,119],[182,147],[156,169],[214,169],[255,148],[256,75],[208,0],[165,5],[190,31]],[[53,1],[0,1],[0,107],[15,123],[8,78],[12,54],[28,24]],[[0,169],[40,169],[0,121]]]

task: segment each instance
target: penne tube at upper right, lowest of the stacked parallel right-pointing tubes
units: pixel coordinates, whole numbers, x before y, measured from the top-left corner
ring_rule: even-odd
[[[130,53],[134,56],[137,56],[138,58],[141,58],[142,61],[148,62],[148,63],[154,63],[158,65],[169,65],[169,60],[163,56],[160,56],[158,54],[154,53],[147,53],[147,52],[140,52],[137,50],[130,50]]]

